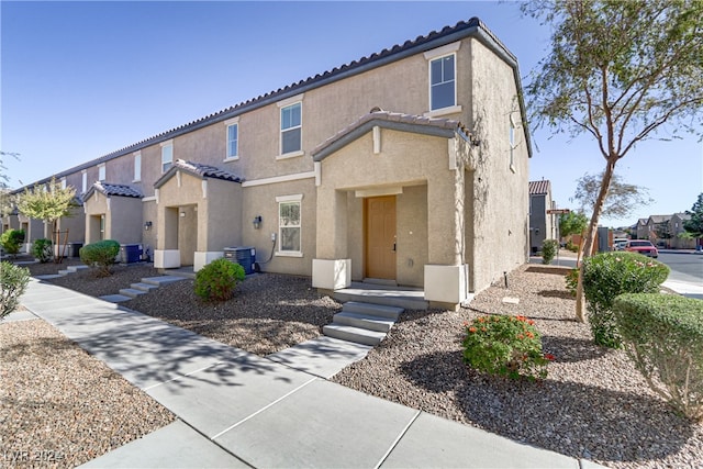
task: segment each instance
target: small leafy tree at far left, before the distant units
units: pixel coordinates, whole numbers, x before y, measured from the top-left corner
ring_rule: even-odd
[[[52,227],[52,237],[56,233],[56,225],[59,219],[70,216],[70,209],[74,206],[76,190],[72,187],[62,188],[56,178],[46,186],[34,185],[33,190],[24,189],[24,192],[16,198],[18,210],[30,219],[42,220]],[[53,239],[56,245],[60,239],[56,236]]]

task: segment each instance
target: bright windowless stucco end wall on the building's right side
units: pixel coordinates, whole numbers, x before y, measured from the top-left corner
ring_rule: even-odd
[[[467,239],[469,282],[480,291],[526,261],[528,154],[523,129],[515,130],[514,172],[510,168],[510,115],[520,122],[512,69],[471,41],[475,134],[479,138],[467,171],[467,210],[475,239]]]

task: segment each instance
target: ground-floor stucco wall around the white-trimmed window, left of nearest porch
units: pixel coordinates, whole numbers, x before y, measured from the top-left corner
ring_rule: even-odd
[[[277,197],[301,194],[301,252],[302,257],[278,254],[278,202]],[[243,190],[242,245],[256,248],[257,261],[271,255],[271,233],[276,233],[276,248],[271,260],[261,264],[261,270],[280,273],[312,275],[316,238],[316,192],[314,178],[264,186],[246,187]],[[254,228],[254,217],[261,216],[261,225]]]

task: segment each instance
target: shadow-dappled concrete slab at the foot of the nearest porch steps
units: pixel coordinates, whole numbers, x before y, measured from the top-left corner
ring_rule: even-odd
[[[328,379],[366,357],[372,348],[370,345],[320,336],[266,358]]]

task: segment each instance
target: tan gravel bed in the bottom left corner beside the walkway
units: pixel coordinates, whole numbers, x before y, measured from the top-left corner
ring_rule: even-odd
[[[0,467],[72,468],[175,416],[42,320],[0,322]]]

